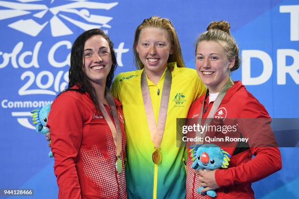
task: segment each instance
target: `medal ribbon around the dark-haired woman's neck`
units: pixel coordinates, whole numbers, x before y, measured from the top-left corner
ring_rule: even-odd
[[[116,156],[118,159],[120,159],[121,152],[122,152],[122,130],[121,130],[121,126],[120,126],[114,99],[113,99],[111,93],[107,89],[105,90],[105,95],[106,95],[106,100],[107,100],[108,104],[111,106],[112,116],[113,116],[116,128],[115,128],[111,118],[109,117],[107,110],[102,101],[99,101],[99,107],[100,107],[100,110],[101,110],[104,118],[106,119],[106,121],[108,123],[110,130],[111,130],[111,133],[113,136],[113,141],[114,141],[115,148],[116,148]]]

